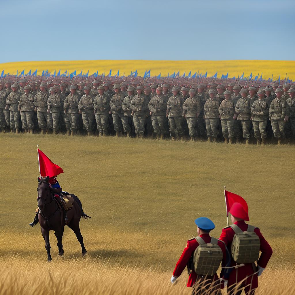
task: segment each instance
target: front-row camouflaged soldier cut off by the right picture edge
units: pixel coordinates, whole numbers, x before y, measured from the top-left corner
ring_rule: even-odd
[[[286,138],[294,143],[295,140],[295,89],[288,90],[289,98],[286,100],[285,131]]]

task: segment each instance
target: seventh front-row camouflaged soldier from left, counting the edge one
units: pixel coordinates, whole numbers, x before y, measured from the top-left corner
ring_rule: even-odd
[[[83,87],[84,95],[81,97],[79,104],[78,104],[78,109],[79,113],[82,113],[82,119],[83,119],[83,124],[85,126],[85,129],[87,131],[87,136],[91,136],[92,132],[92,124],[94,120],[94,107],[93,107],[93,102],[94,98],[92,94],[90,93],[90,87],[89,86],[84,86]]]

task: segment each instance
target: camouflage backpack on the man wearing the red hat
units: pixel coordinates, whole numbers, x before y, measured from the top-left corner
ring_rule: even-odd
[[[254,232],[255,227],[248,224],[243,232],[236,224],[230,226],[234,232],[231,253],[236,263],[253,263],[259,258],[260,239]]]

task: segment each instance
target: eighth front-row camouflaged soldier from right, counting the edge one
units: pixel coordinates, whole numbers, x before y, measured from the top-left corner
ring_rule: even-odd
[[[176,137],[180,140],[183,139],[183,97],[179,94],[177,87],[172,88],[173,95],[169,97],[167,102],[166,116],[169,119],[170,134],[171,137],[176,140]]]

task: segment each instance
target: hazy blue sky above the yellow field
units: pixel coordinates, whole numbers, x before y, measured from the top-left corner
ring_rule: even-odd
[[[294,60],[294,0],[0,0],[0,63]]]

